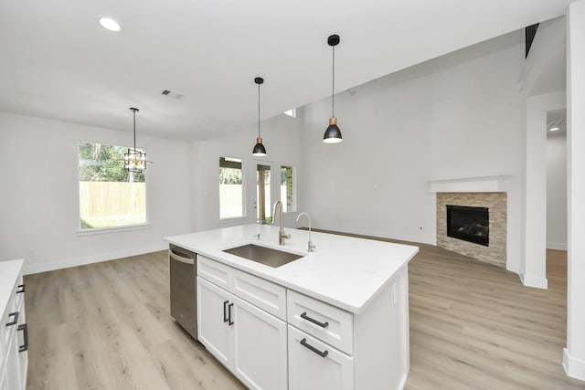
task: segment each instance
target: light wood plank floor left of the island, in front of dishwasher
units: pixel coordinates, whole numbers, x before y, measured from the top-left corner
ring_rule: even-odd
[[[245,389],[170,318],[166,252],[25,283],[27,389]]]

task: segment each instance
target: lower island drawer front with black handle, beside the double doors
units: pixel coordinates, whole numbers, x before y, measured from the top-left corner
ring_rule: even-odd
[[[354,357],[289,325],[289,390],[354,390]]]

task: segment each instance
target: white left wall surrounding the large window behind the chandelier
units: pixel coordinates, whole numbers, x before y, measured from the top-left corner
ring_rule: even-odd
[[[27,273],[136,255],[191,230],[187,142],[141,136],[149,164],[150,226],[79,233],[78,142],[132,143],[116,132],[0,113],[0,259],[26,258]],[[32,251],[31,251],[32,250]]]

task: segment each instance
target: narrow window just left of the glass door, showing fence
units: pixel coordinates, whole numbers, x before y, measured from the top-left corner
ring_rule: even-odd
[[[241,160],[219,158],[219,219],[244,216]]]

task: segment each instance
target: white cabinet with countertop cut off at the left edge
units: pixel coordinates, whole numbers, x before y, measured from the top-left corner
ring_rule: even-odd
[[[28,334],[23,260],[0,262],[0,390],[27,387]]]

